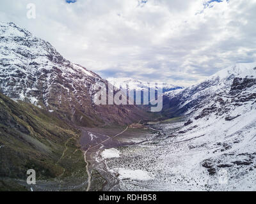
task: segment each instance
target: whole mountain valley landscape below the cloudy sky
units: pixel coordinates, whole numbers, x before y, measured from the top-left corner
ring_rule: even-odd
[[[256,63],[187,88],[167,84],[153,113],[96,103],[99,84],[109,100],[124,87],[145,92],[143,82],[114,80],[111,91],[12,22],[0,37],[1,191],[256,190]]]

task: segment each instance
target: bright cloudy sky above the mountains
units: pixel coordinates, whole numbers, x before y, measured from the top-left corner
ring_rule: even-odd
[[[69,3],[68,3],[69,2]],[[256,0],[1,0],[0,20],[103,78],[191,85],[256,61]],[[35,3],[36,18],[26,17]]]

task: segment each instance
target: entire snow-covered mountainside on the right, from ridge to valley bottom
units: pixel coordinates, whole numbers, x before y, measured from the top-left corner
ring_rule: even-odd
[[[116,189],[255,191],[256,63],[166,95],[164,113],[179,118],[151,125],[161,134],[107,160],[121,175]],[[139,170],[145,177],[134,176]]]

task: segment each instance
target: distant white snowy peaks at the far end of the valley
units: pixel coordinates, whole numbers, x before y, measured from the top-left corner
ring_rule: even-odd
[[[150,88],[155,90],[157,90],[158,88],[157,83],[143,82],[135,78],[129,78],[129,77],[121,77],[121,78],[109,77],[107,78],[107,80],[118,89],[147,91]],[[183,88],[183,87],[176,86],[173,84],[168,84],[168,83],[161,84],[161,87],[163,87],[163,92],[168,92],[168,91],[173,91],[173,90]]]

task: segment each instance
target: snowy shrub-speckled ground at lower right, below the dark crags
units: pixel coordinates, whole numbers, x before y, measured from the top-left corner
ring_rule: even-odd
[[[241,124],[240,119],[230,124],[205,120],[200,128],[166,140],[159,138],[118,149],[120,157],[106,160],[109,171],[113,176],[117,172],[121,180],[113,190],[256,190],[253,113],[254,117],[244,115]]]

